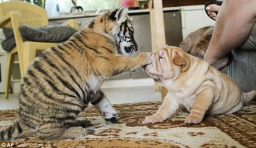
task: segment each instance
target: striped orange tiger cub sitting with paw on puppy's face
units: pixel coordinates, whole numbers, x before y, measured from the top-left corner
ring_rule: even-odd
[[[128,9],[121,7],[95,17],[69,40],[44,50],[22,78],[19,115],[0,132],[0,139],[33,131],[40,139],[85,136],[77,120],[88,103],[110,121],[119,118],[99,88],[107,77],[133,71],[149,62],[137,52]]]

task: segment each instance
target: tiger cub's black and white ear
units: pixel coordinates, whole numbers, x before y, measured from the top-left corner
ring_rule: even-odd
[[[109,15],[109,19],[112,19],[113,21],[116,20],[118,24],[121,24],[122,22],[126,21],[128,14],[128,9],[126,7],[120,7],[119,9],[116,9],[111,12]]]

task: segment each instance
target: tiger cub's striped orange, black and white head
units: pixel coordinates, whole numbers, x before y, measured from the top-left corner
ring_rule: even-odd
[[[116,42],[117,53],[130,57],[137,52],[138,46],[133,36],[134,29],[126,7],[120,7],[96,17],[91,22],[91,26],[92,24],[94,29],[98,31],[103,29],[104,33],[112,36]]]

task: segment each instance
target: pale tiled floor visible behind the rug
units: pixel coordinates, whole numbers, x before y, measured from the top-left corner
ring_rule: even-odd
[[[126,88],[103,88],[112,104],[133,102],[161,102],[161,92],[154,91],[154,86],[126,87]],[[9,95],[5,99],[0,95],[0,110],[19,108],[18,94]]]

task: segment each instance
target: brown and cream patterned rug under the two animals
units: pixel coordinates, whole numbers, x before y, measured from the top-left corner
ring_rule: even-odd
[[[165,122],[142,124],[145,115],[156,112],[159,105],[161,102],[114,105],[121,113],[117,123],[105,122],[90,106],[79,115],[92,122],[85,137],[52,141],[31,137],[0,142],[0,147],[256,147],[255,101],[232,115],[207,116],[199,125],[186,125],[188,113],[182,109]],[[11,124],[16,115],[16,110],[1,111],[0,129]]]

